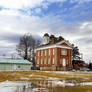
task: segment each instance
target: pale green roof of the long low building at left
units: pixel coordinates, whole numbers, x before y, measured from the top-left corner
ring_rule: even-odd
[[[23,59],[10,59],[10,58],[0,58],[0,63],[12,63],[12,64],[32,64],[28,60]]]

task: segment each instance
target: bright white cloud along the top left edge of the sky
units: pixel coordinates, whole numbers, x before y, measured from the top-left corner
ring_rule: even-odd
[[[0,0],[0,6],[13,9],[33,8],[42,2],[43,0]]]

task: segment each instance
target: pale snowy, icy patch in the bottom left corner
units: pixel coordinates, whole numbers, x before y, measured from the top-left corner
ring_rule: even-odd
[[[30,84],[31,82],[4,81],[0,83],[0,92],[23,92],[23,86],[27,88]]]

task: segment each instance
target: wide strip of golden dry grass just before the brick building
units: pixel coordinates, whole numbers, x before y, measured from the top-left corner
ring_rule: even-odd
[[[92,82],[92,73],[89,72],[0,71],[0,81],[31,81],[47,79],[49,77],[67,80],[75,79],[77,82]]]

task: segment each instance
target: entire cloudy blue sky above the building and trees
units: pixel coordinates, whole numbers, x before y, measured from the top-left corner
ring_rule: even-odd
[[[0,55],[16,53],[25,33],[63,36],[92,61],[92,0],[0,0]]]

